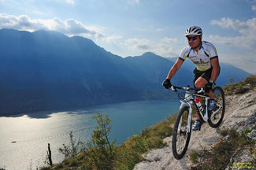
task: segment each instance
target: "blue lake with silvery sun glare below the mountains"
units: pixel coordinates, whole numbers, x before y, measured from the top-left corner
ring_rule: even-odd
[[[46,161],[48,143],[54,163],[63,160],[58,148],[69,145],[69,132],[87,142],[96,124],[96,113],[112,120],[110,139],[121,144],[146,127],[177,113],[178,100],[134,101],[95,105],[84,109],[45,111],[0,116],[0,168],[35,169]]]

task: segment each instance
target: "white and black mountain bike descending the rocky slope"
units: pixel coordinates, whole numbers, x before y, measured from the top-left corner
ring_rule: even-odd
[[[215,100],[215,109],[209,110],[208,106],[210,103],[210,97],[205,94],[205,88],[191,88],[187,87],[176,87],[172,86],[169,89],[176,92],[178,97],[180,98],[180,111],[176,117],[176,123],[173,128],[173,156],[180,160],[184,157],[189,140],[191,138],[191,124],[192,124],[192,108],[195,107],[201,122],[208,121],[210,127],[219,127],[223,117],[225,110],[224,103],[224,91],[221,87],[214,87],[213,94],[216,99]],[[185,91],[185,95],[183,96],[180,91],[177,89]],[[202,113],[202,111],[198,108],[198,105],[195,103],[195,96],[201,97],[205,102],[206,112]]]

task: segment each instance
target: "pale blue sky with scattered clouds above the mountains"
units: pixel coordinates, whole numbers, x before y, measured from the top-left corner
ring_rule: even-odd
[[[220,62],[256,74],[255,14],[256,0],[0,0],[0,29],[80,35],[121,57],[177,57],[198,25]]]

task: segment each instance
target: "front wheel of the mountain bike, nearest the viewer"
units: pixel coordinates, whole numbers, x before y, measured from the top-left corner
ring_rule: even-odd
[[[189,108],[184,106],[176,118],[173,128],[173,156],[180,160],[184,157],[191,137],[191,121],[188,123]]]

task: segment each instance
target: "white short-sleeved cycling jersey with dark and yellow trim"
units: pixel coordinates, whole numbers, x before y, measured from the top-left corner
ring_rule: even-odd
[[[210,60],[217,57],[217,50],[212,43],[202,41],[202,46],[198,52],[193,50],[191,46],[186,46],[181,50],[179,58],[184,61],[187,57],[191,59],[199,71],[204,72],[212,67]]]

